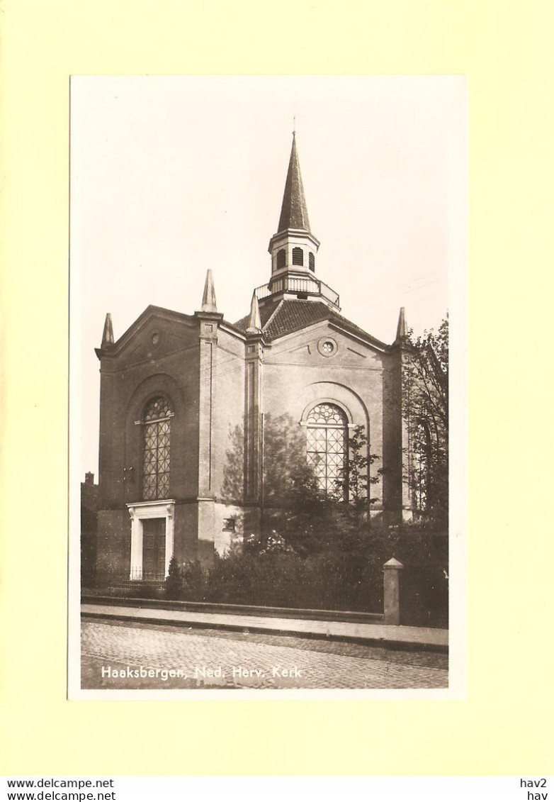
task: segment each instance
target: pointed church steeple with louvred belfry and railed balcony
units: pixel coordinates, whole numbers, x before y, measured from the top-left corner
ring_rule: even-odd
[[[269,285],[259,288],[263,290],[259,294],[260,302],[263,304],[266,298],[300,298],[321,301],[339,310],[338,294],[315,277],[318,249],[319,240],[313,236],[309,226],[296,132],[293,132],[281,216],[277,233],[269,241],[271,278]]]

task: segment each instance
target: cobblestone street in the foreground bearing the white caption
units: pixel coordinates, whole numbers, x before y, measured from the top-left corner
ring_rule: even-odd
[[[85,620],[81,648],[87,689],[444,688],[448,683],[443,654],[281,635]]]

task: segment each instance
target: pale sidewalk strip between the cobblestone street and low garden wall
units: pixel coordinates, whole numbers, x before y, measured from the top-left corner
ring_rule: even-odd
[[[448,630],[431,629],[431,627],[425,626],[265,618],[258,615],[196,613],[189,610],[160,610],[159,608],[107,604],[82,604],[81,614],[87,618],[104,620],[111,618],[117,621],[169,624],[181,627],[290,634],[305,638],[328,638],[412,650],[441,652],[448,650]]]

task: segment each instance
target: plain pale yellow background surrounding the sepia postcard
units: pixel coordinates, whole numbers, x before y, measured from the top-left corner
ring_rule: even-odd
[[[551,0],[4,0],[0,772],[552,773]],[[71,74],[466,74],[463,701],[66,701]],[[345,121],[347,124],[347,121]]]

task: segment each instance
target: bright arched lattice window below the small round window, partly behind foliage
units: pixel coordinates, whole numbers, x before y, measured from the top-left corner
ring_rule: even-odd
[[[345,501],[348,478],[348,423],[346,415],[332,403],[319,403],[309,413],[308,464],[317,487],[328,498]]]

